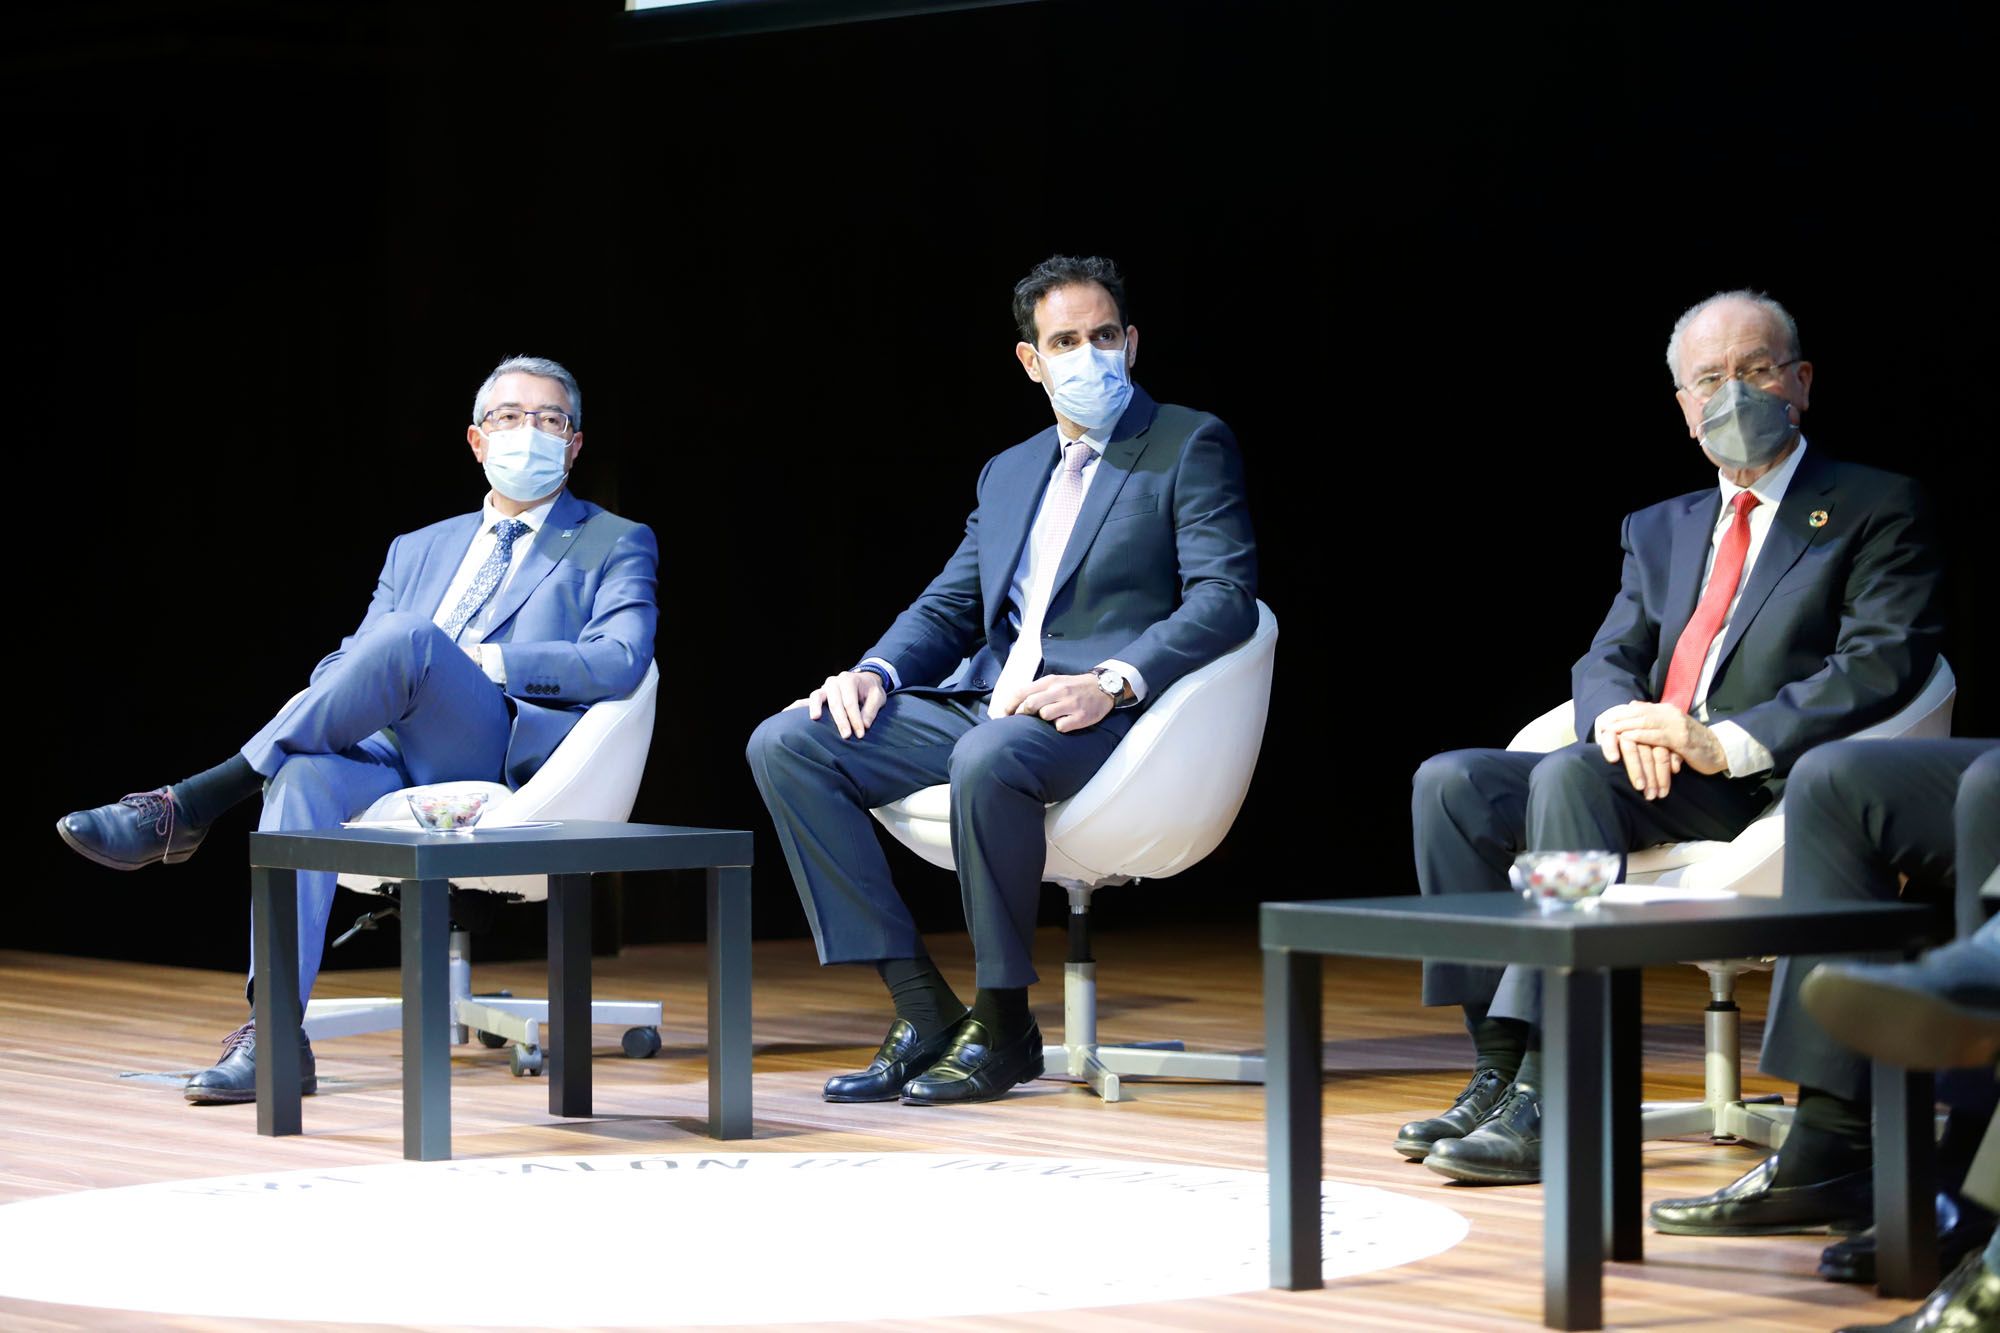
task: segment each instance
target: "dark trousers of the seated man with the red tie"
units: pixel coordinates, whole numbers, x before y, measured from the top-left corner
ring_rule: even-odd
[[[1734,839],[1770,805],[1762,777],[1674,775],[1646,801],[1624,765],[1594,743],[1532,751],[1450,751],[1424,761],[1410,793],[1416,885],[1432,893],[1510,893],[1522,851],[1628,853],[1656,843]],[[1424,963],[1426,1005],[1490,1005],[1538,1023],[1540,971]]]

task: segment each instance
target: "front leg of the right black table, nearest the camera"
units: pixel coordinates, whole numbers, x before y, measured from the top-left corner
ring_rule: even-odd
[[[1542,969],[1542,1323],[1604,1327],[1604,973]]]

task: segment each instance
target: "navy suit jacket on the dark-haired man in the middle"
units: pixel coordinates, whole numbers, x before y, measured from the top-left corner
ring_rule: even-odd
[[[986,462],[958,550],[866,656],[910,689],[994,687],[1014,642],[1008,586],[1060,452],[1050,426]],[[1134,388],[1096,468],[1056,566],[1042,675],[1120,658],[1152,701],[1256,628],[1242,458],[1214,416]]]

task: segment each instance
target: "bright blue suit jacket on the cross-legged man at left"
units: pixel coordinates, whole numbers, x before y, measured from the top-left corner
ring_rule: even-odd
[[[312,669],[314,681],[392,610],[432,616],[478,534],[460,514],[388,544],[374,600],[354,634]],[[486,642],[500,644],[514,709],[506,781],[520,787],[562,743],[584,709],[630,695],[652,662],[660,546],[652,530],[568,490],[556,496],[534,546],[494,604]]]

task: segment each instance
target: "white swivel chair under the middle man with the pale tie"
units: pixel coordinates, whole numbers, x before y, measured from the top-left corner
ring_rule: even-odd
[[[1278,620],[1258,602],[1258,628],[1244,644],[1176,681],[1080,793],[1048,807],[1042,879],[1070,895],[1070,953],[1062,965],[1062,1045],[1042,1047],[1044,1079],[1086,1083],[1104,1101],[1122,1097],[1122,1079],[1264,1081],[1264,1059],[1254,1055],[1206,1055],[1178,1041],[1098,1043],[1090,895],[1184,871],[1228,833],[1264,741],[1276,642]],[[924,787],[874,817],[898,843],[950,871],[950,791],[948,783]]]

